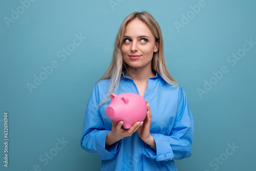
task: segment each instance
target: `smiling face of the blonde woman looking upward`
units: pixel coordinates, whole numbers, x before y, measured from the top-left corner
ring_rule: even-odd
[[[151,66],[153,54],[158,51],[158,45],[147,25],[135,18],[125,28],[121,47],[123,60],[133,68]]]

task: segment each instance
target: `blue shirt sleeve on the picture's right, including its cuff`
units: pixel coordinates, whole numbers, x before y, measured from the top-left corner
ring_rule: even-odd
[[[188,108],[186,95],[180,88],[175,123],[169,135],[151,133],[156,142],[156,151],[145,144],[144,155],[157,161],[180,160],[191,156],[190,148],[194,135],[193,116]]]

